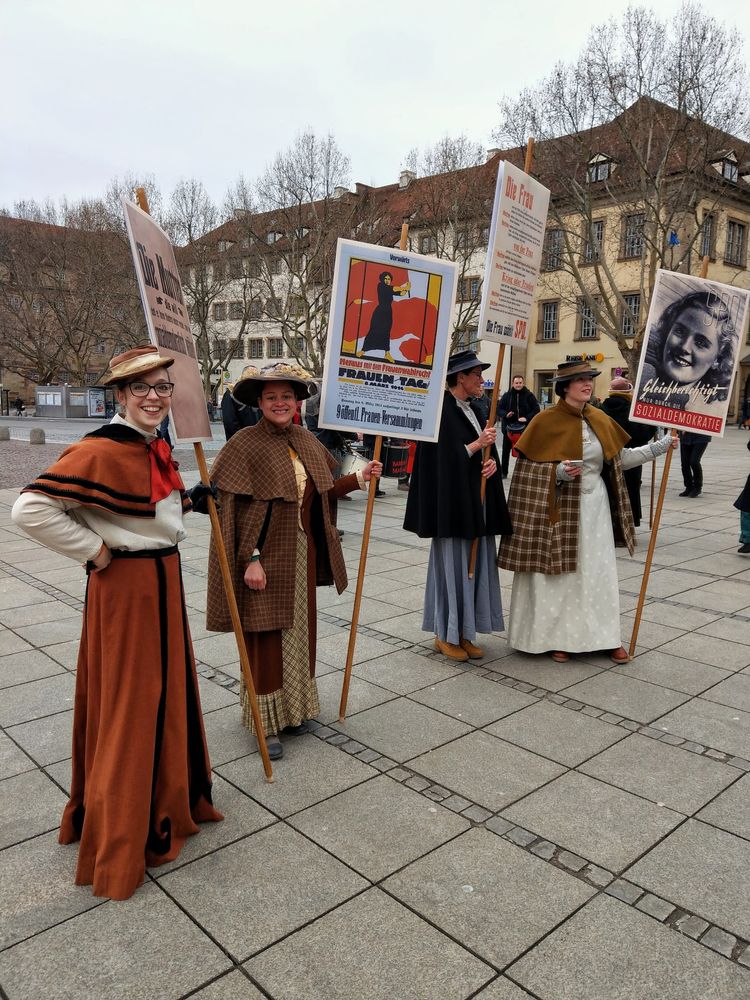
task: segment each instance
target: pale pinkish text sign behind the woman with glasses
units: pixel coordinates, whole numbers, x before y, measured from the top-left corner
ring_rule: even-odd
[[[175,440],[210,441],[203,380],[172,244],[137,205],[123,199],[123,208],[149,339],[174,358],[169,374],[175,384],[171,409]]]

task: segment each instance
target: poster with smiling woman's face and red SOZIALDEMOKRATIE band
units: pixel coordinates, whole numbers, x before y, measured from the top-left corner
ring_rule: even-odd
[[[720,437],[749,302],[745,289],[659,271],[630,419]]]

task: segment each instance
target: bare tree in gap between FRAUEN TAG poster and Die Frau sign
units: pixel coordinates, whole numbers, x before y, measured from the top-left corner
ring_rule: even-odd
[[[451,350],[469,347],[476,336],[482,297],[483,256],[489,241],[497,162],[486,162],[481,146],[464,135],[444,136],[419,152],[412,149],[405,167],[416,175],[409,222],[421,250],[458,265],[458,300]],[[416,179],[418,178],[418,180]]]

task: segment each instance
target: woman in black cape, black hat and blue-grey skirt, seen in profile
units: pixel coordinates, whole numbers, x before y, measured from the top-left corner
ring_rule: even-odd
[[[406,501],[404,528],[432,539],[422,628],[435,634],[435,648],[451,660],[479,659],[484,653],[476,645],[477,633],[504,627],[495,535],[510,533],[511,526],[503,484],[495,475],[497,431],[483,427],[474,408],[489,367],[473,351],[449,358],[438,441],[417,443]],[[488,445],[490,458],[484,462]],[[469,579],[475,538],[476,567]]]

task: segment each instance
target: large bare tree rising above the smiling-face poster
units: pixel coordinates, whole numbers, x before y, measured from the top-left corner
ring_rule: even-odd
[[[496,137],[520,157],[533,136],[552,190],[546,285],[631,364],[657,268],[696,270],[713,210],[736,191],[720,161],[732,147],[747,157],[735,138],[747,109],[738,33],[691,3],[669,22],[628,8],[575,63],[501,101]]]

